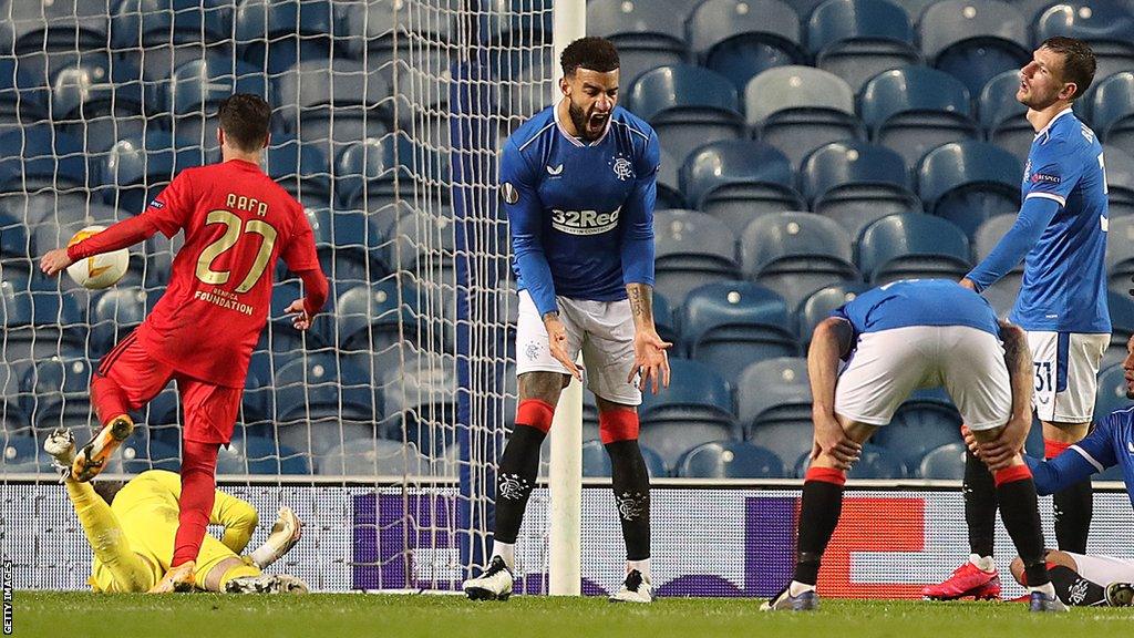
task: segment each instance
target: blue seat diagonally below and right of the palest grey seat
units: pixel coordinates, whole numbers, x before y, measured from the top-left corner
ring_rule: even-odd
[[[887,215],[922,210],[905,160],[877,144],[827,144],[803,162],[801,182],[811,210],[838,221],[854,242]]]

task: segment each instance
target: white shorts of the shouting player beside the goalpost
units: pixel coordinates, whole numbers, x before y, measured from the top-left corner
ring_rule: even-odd
[[[567,354],[583,351],[583,378],[595,396],[623,405],[638,405],[642,393],[626,378],[634,367],[634,318],[631,302],[586,301],[556,297],[559,319],[567,329]],[[516,373],[561,372],[562,363],[551,356],[548,330],[527,291],[519,291],[516,321]]]

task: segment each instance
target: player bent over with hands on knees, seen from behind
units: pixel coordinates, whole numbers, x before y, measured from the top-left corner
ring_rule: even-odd
[[[841,375],[840,359],[847,361]],[[819,564],[839,521],[846,470],[913,391],[945,386],[993,471],[1031,610],[1066,611],[1043,562],[1035,485],[1019,453],[1032,423],[1032,362],[1022,330],[1000,325],[988,302],[953,282],[896,282],[858,295],[815,328],[807,373],[815,439],[795,577],[761,608],[818,607]]]

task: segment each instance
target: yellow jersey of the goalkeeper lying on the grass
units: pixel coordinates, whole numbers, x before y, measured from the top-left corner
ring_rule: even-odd
[[[115,496],[110,509],[122,530],[122,542],[149,564],[156,582],[169,569],[174,560],[174,542],[177,536],[181,478],[164,470],[142,472],[122,487]],[[197,555],[197,569],[219,563],[244,552],[259,523],[256,509],[245,501],[217,490],[210,524],[225,528],[221,540],[205,535]],[[109,570],[100,569],[94,560],[91,586],[98,591],[115,590]]]

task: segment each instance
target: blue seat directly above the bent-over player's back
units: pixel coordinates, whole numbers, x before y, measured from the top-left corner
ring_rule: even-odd
[[[908,212],[871,224],[858,241],[858,269],[874,285],[897,279],[960,279],[972,268],[968,240],[951,223]]]

